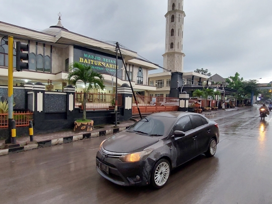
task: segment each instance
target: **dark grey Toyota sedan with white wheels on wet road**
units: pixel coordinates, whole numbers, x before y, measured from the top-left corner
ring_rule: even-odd
[[[213,157],[218,143],[218,124],[200,114],[155,113],[103,141],[96,169],[119,185],[162,188],[172,169],[203,153]]]

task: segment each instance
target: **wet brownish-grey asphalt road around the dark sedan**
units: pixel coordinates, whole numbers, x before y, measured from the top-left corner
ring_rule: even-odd
[[[102,178],[101,137],[0,157],[0,203],[272,203],[272,114],[261,121],[257,108],[210,115],[221,130],[215,157],[175,169],[160,190]]]

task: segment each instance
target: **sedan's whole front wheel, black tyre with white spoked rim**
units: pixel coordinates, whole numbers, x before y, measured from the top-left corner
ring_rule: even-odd
[[[170,176],[171,166],[168,160],[159,160],[151,173],[151,183],[154,188],[160,189],[165,186]]]

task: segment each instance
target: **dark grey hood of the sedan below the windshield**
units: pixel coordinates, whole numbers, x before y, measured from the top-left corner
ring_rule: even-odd
[[[110,152],[119,153],[141,152],[158,141],[158,137],[122,131],[106,140],[103,143],[103,148]]]

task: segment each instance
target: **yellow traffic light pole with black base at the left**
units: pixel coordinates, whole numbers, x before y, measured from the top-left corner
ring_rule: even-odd
[[[16,128],[13,119],[13,36],[8,37],[9,66],[8,66],[8,106],[9,106],[9,138],[6,144],[16,144]]]

